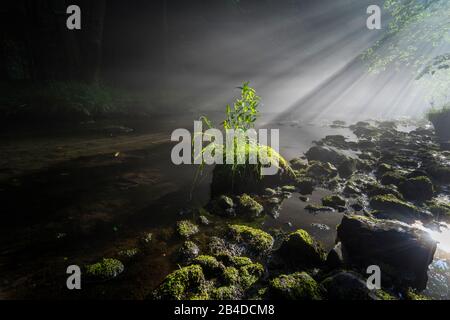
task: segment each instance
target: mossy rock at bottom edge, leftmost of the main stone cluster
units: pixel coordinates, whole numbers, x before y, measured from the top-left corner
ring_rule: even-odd
[[[204,281],[201,266],[184,267],[169,274],[155,290],[154,296],[156,299],[182,300],[186,298],[187,293],[198,289]]]

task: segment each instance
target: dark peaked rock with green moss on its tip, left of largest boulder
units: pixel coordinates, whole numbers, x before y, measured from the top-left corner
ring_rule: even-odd
[[[294,266],[318,266],[325,262],[325,251],[308,232],[299,229],[281,244],[278,254]]]

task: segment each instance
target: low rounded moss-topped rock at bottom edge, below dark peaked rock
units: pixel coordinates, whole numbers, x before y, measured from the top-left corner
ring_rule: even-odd
[[[269,292],[274,299],[321,300],[317,282],[306,272],[281,275],[270,281]]]

